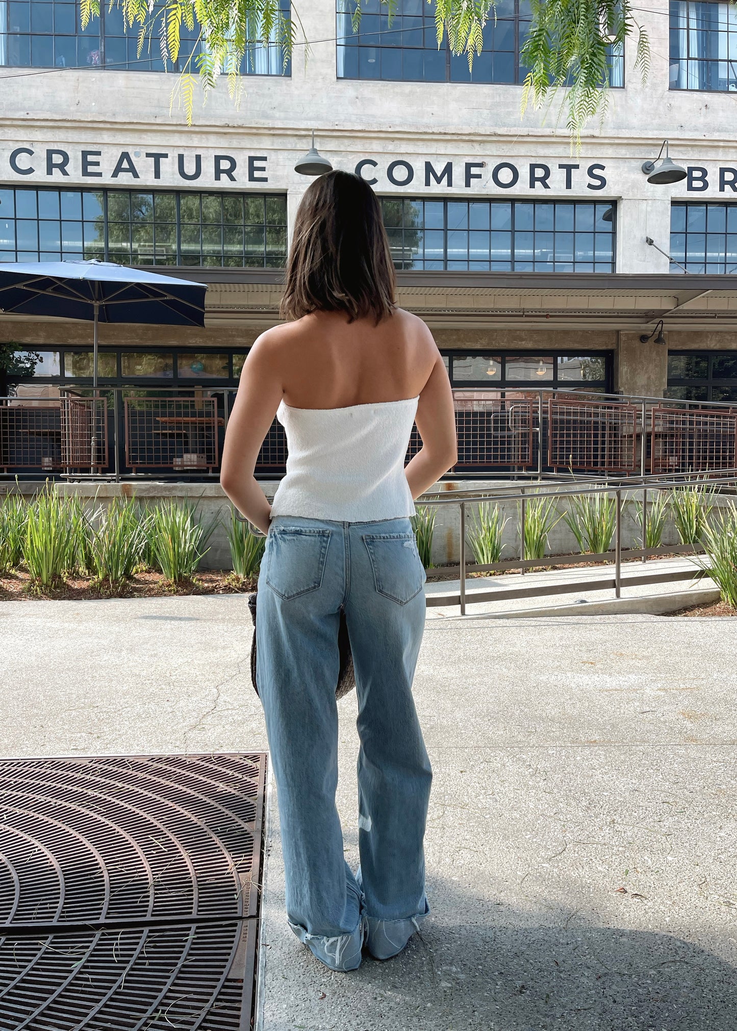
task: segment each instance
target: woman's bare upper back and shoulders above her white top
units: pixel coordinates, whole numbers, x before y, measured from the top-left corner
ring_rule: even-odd
[[[295,408],[344,408],[417,397],[438,348],[425,324],[397,309],[376,326],[319,311],[269,331],[284,401]]]

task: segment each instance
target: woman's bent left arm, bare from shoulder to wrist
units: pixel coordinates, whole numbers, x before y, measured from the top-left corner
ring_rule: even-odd
[[[264,533],[268,533],[271,506],[253,473],[283,394],[268,340],[273,332],[256,340],[244,362],[220,466],[223,490],[237,510]]]

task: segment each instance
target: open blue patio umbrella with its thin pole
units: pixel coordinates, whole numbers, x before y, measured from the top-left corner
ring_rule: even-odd
[[[83,319],[94,324],[95,396],[99,323],[204,326],[206,289],[203,282],[143,272],[115,262],[0,264],[0,311],[3,313]],[[95,443],[93,436],[93,457]]]

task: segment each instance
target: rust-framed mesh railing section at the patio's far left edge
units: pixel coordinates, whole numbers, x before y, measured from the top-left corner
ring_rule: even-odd
[[[93,436],[94,461],[93,461]],[[0,401],[0,470],[61,472],[107,466],[105,398]]]

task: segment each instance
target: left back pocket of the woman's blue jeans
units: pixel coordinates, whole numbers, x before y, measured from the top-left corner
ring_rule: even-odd
[[[329,542],[329,530],[273,527],[266,540],[266,584],[285,600],[317,591]]]

